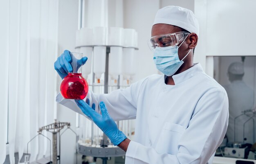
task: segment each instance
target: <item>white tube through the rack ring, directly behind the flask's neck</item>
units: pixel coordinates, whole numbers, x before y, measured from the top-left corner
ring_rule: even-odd
[[[93,30],[92,28],[81,28],[80,29],[80,42],[81,46],[91,46],[93,45]],[[88,75],[92,71],[92,47],[81,47],[80,52],[84,56],[88,57],[86,63],[83,65],[82,75],[85,79],[88,78]]]

